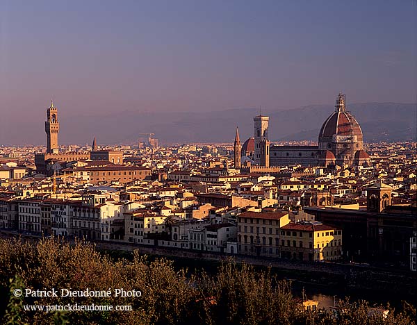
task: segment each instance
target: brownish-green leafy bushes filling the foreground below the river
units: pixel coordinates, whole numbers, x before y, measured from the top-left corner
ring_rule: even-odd
[[[393,284],[395,285],[395,284]],[[15,297],[16,288],[45,290],[140,290],[141,297]],[[411,325],[416,310],[404,303],[386,318],[369,313],[366,301],[341,301],[336,316],[306,311],[290,283],[250,265],[222,264],[217,274],[187,274],[172,261],[133,253],[114,260],[92,244],[57,239],[0,240],[0,324],[387,324]],[[132,311],[42,312],[24,305],[130,305]]]

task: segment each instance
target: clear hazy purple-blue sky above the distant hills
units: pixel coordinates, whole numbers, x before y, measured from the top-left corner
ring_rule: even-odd
[[[415,102],[417,5],[0,2],[0,119]],[[42,124],[40,126],[42,128]]]

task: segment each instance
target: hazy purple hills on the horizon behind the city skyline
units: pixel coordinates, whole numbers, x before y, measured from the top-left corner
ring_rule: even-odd
[[[366,142],[416,140],[416,103],[352,103],[347,106],[361,125]],[[332,105],[311,105],[292,110],[265,111],[270,116],[270,140],[317,140],[325,119],[334,111]],[[91,142],[133,144],[139,133],[152,132],[163,144],[186,142],[231,142],[236,126],[244,141],[253,135],[252,108],[211,113],[141,113],[125,111],[111,115],[66,117],[60,119],[60,143]],[[44,143],[43,125],[22,124],[31,141]],[[31,143],[13,125],[5,125],[3,134],[10,139],[0,144]]]

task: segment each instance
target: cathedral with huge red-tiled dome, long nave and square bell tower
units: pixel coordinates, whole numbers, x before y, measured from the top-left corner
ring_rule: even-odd
[[[346,110],[345,100],[344,94],[338,94],[334,113],[320,128],[318,146],[270,146],[269,117],[254,117],[254,163],[265,167],[368,165],[369,156],[363,150],[361,126]],[[245,150],[242,153],[245,154]]]

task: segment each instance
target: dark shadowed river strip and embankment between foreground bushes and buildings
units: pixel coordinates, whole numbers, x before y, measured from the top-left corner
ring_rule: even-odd
[[[0,233],[2,237],[13,238],[13,233]],[[22,235],[26,240],[38,240],[35,236]],[[74,243],[74,240],[67,239]],[[254,256],[227,255],[170,247],[149,247],[124,242],[94,242],[99,251],[131,252],[138,250],[147,256],[165,257],[174,260],[177,267],[187,267],[193,271],[204,269],[208,273],[215,272],[219,263],[232,259],[236,263],[247,263],[256,267],[271,267],[278,278],[292,280],[295,295],[303,288],[309,296],[325,294],[326,299],[337,296],[350,296],[355,299],[366,299],[373,303],[390,302],[399,305],[401,300],[417,300],[417,277],[413,272],[395,269],[380,269],[367,265],[347,265],[342,263],[308,263],[297,260],[277,258],[259,258]],[[115,253],[111,253],[115,255]],[[116,253],[117,255],[117,253]]]

